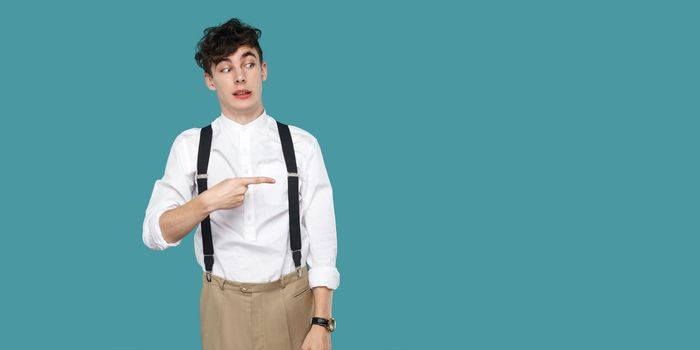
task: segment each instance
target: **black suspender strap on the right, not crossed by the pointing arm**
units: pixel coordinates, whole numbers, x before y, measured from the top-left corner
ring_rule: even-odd
[[[289,195],[289,244],[292,248],[292,258],[297,273],[301,273],[301,227],[299,222],[299,175],[297,174],[297,162],[294,156],[294,143],[289,132],[289,126],[277,122],[277,130],[282,140],[282,152],[284,162],[287,165],[287,184]]]

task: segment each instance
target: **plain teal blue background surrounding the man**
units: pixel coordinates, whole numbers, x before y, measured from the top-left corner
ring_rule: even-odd
[[[333,183],[334,349],[698,349],[691,4],[3,3],[0,348],[200,348],[192,235],[141,225],[239,17]]]

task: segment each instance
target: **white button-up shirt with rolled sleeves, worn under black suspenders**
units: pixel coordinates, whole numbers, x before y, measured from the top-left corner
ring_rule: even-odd
[[[232,177],[267,176],[273,184],[251,184],[243,204],[212,212],[214,266],[212,273],[239,282],[270,282],[294,271],[289,244],[287,167],[274,118],[263,113],[239,124],[223,113],[214,119],[208,167],[208,188]],[[289,124],[288,124],[289,125]],[[309,266],[309,285],[338,288],[337,239],[333,190],[318,140],[289,125],[299,174],[299,211],[302,265]],[[177,246],[160,229],[166,210],[187,203],[198,194],[195,184],[200,128],[180,133],[173,141],[163,178],[156,180],[143,222],[143,242],[153,250]],[[201,225],[194,252],[204,271]]]

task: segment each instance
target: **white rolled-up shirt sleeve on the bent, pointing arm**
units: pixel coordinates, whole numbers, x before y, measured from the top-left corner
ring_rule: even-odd
[[[160,217],[166,211],[177,208],[190,199],[194,190],[194,172],[186,171],[189,157],[186,153],[184,133],[175,138],[170,148],[165,172],[161,179],[156,180],[153,193],[146,208],[143,221],[143,243],[152,250],[165,250],[180,245],[182,239],[168,243],[163,238],[160,228]]]

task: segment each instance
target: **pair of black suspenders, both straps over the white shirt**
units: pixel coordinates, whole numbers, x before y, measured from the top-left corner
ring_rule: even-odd
[[[289,132],[289,126],[277,121],[277,130],[282,141],[282,153],[287,165],[287,183],[289,197],[289,245],[297,274],[301,276],[301,227],[299,222],[299,175],[297,174],[294,143]],[[211,124],[203,127],[199,136],[197,151],[197,188],[199,194],[207,190],[207,168],[211,153],[212,129]],[[207,271],[207,281],[211,282],[211,272],[214,267],[214,244],[211,238],[211,221],[207,215],[200,223],[202,228],[202,248],[204,250],[204,268]]]

